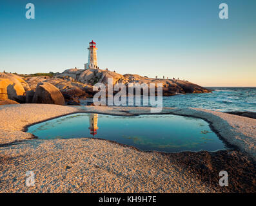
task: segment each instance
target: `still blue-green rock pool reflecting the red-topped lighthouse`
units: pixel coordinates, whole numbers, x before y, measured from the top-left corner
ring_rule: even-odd
[[[28,128],[39,139],[92,137],[145,151],[217,151],[228,149],[204,120],[177,115],[120,117],[74,114]]]

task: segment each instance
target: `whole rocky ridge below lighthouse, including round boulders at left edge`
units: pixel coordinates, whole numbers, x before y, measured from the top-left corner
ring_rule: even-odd
[[[128,93],[129,84],[148,86],[154,84],[155,95],[157,95],[159,83],[162,84],[163,96],[172,96],[177,93],[211,92],[210,89],[202,88],[187,80],[153,79],[132,74],[121,75],[115,71],[100,69],[70,69],[50,76],[0,73],[0,105],[23,103],[80,105],[81,99],[92,98],[97,93],[93,90],[94,84],[103,83],[107,86],[108,79],[112,79],[113,85],[126,86],[126,93]],[[117,92],[113,91],[113,95]],[[133,93],[135,94],[135,91]],[[141,93],[143,94],[143,91]]]

